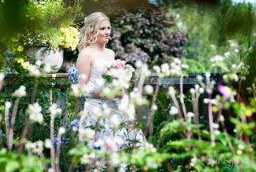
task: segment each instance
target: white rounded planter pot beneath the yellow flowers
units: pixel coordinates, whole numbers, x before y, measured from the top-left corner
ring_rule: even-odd
[[[33,47],[28,50],[27,54],[30,57],[42,60],[44,64],[49,63],[51,66],[50,73],[56,73],[62,66],[63,50],[49,49],[46,46]]]

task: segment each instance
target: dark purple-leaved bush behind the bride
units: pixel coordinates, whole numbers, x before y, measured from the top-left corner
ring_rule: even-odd
[[[122,17],[114,18],[111,47],[116,57],[127,62],[138,60],[150,66],[169,62],[170,56],[180,57],[184,52],[186,34],[167,29],[175,25],[174,18],[159,6],[146,6],[136,13],[124,11]]]

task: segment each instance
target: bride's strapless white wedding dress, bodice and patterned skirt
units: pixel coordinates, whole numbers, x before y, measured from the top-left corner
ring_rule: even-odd
[[[110,62],[102,60],[95,62],[90,69],[90,78],[86,86],[90,87],[90,90],[101,90],[99,80],[102,79],[102,73],[106,70],[106,66]],[[135,146],[141,146],[145,140],[142,130],[137,130],[134,127],[130,127],[136,123],[135,121],[129,121],[126,115],[118,109],[120,103],[119,98],[86,98],[84,108],[86,108],[86,118],[84,120],[85,127],[95,129],[96,134],[93,140],[90,141],[89,146],[94,146],[97,142],[110,142],[118,138],[118,144],[115,146],[115,151],[122,150],[126,146],[131,145],[131,140],[136,140]],[[122,128],[117,127],[122,123]],[[130,126],[127,126],[129,124]],[[120,142],[121,141],[121,142]]]

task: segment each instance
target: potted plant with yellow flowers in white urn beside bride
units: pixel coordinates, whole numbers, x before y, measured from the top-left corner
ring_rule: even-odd
[[[14,38],[12,50],[50,63],[57,72],[63,62],[63,48],[75,50],[79,32],[74,24],[80,16],[80,0],[29,0],[25,7],[27,30]]]

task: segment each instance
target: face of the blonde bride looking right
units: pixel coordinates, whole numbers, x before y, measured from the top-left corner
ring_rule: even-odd
[[[108,22],[107,20],[103,20],[98,29],[97,42],[103,42],[103,43],[109,42],[110,31],[111,31],[110,22]]]

